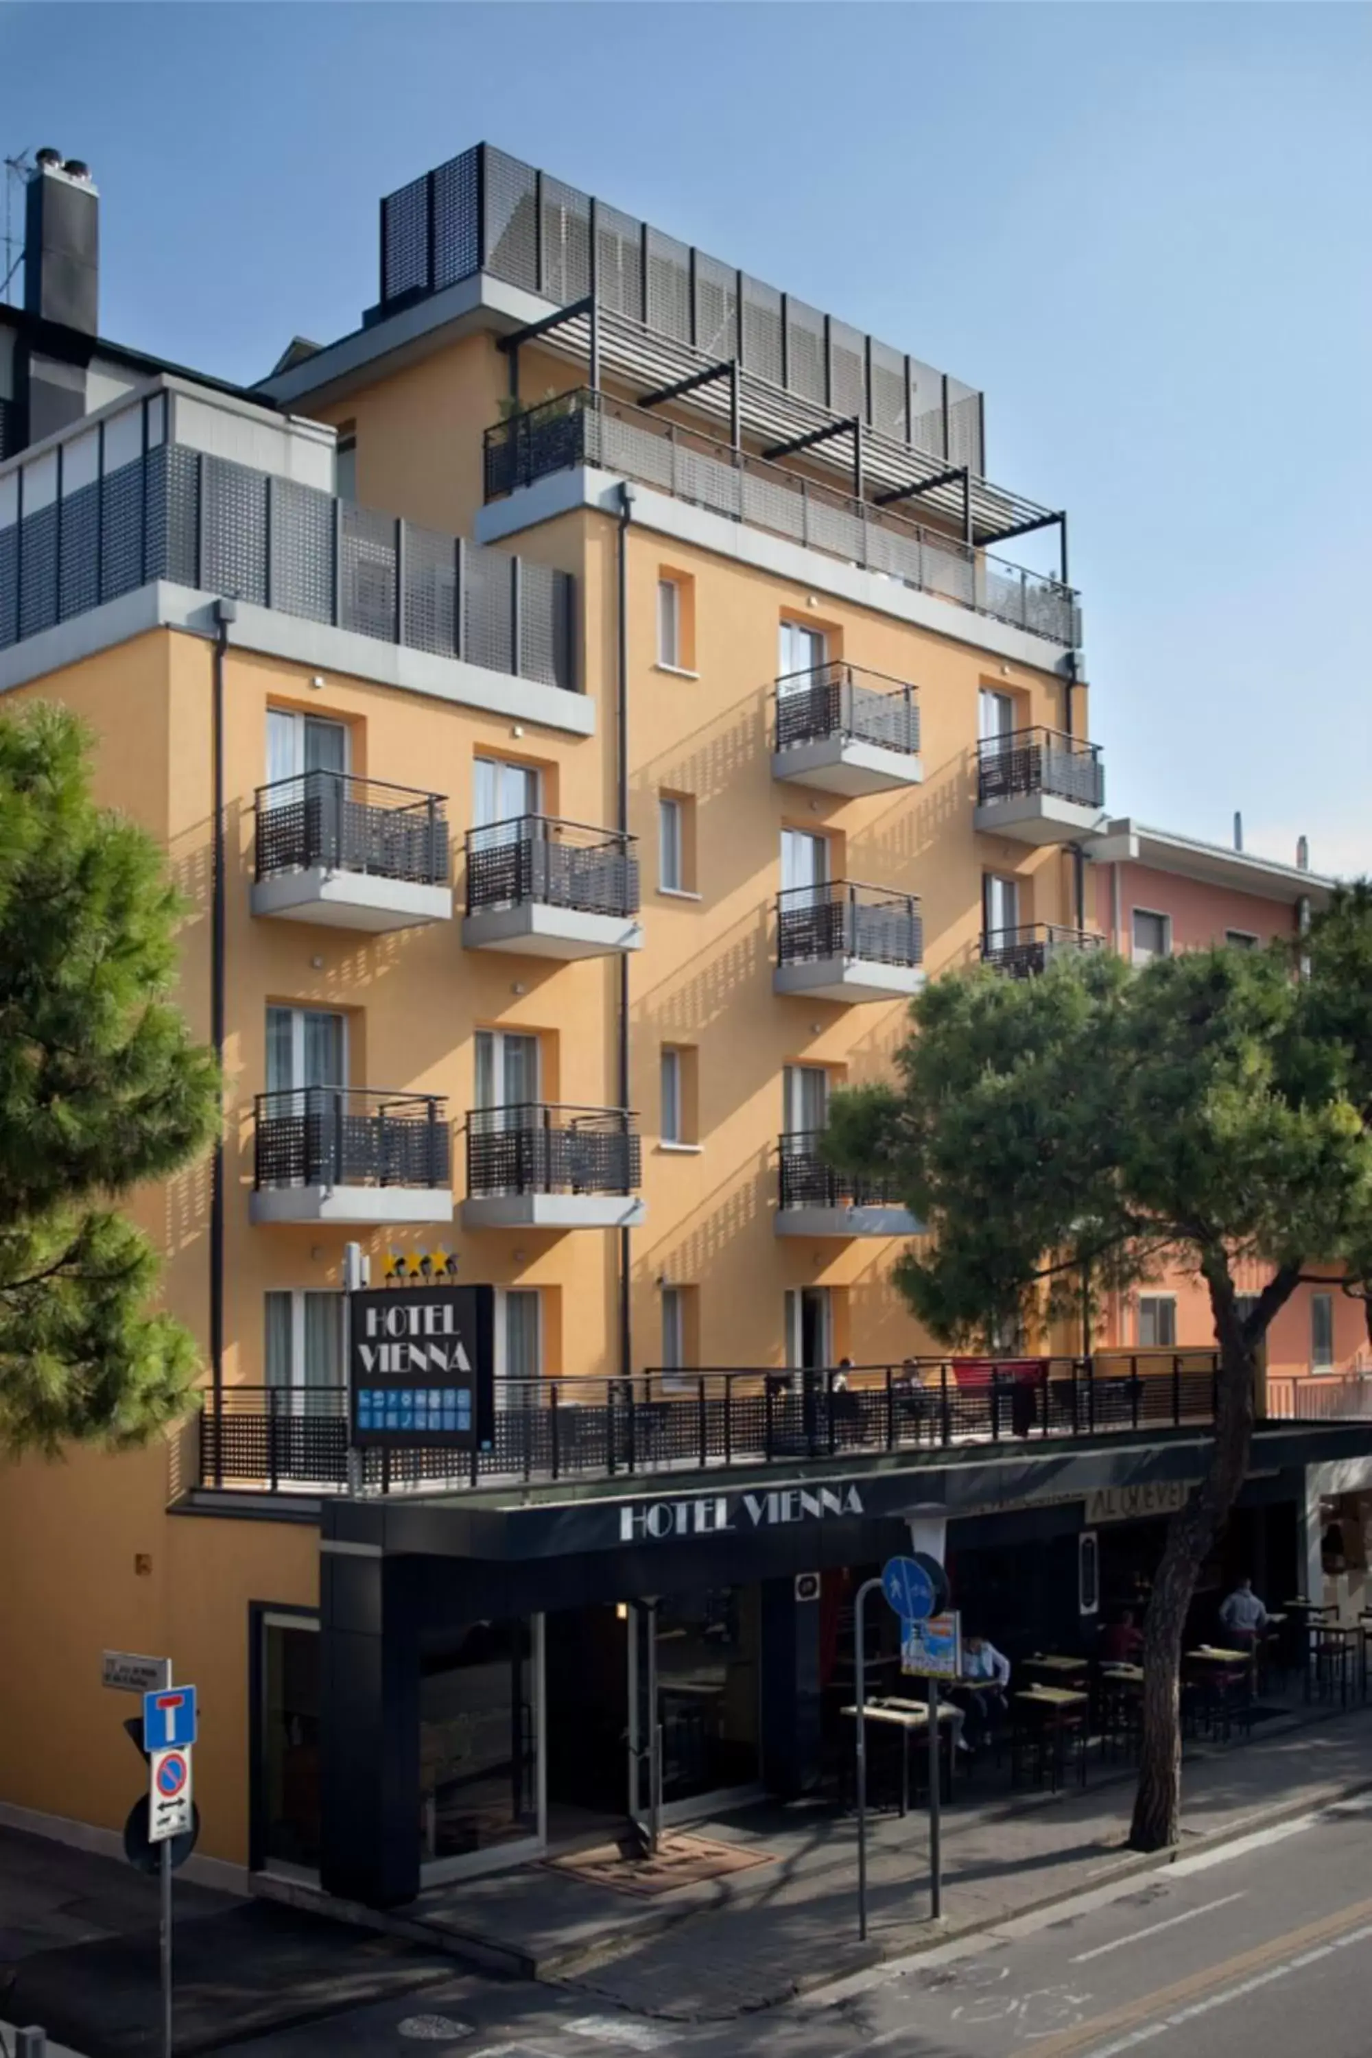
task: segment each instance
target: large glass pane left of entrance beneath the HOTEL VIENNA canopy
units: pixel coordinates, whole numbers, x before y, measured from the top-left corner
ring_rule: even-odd
[[[539,1720],[529,1622],[475,1622],[420,1655],[422,1862],[539,1834]]]

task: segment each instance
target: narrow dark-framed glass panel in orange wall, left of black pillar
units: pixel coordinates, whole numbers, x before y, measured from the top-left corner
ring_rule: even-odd
[[[259,1618],[259,1862],[319,1871],[319,1624]]]

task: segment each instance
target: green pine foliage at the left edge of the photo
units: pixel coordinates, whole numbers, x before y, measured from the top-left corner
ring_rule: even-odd
[[[197,1373],[113,1202],[208,1144],[218,1070],[169,1000],[163,854],[88,755],[68,710],[0,718],[0,1451],[140,1443]]]

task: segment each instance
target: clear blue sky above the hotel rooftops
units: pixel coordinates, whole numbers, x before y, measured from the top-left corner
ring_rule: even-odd
[[[987,391],[1066,506],[1109,803],[1372,871],[1366,6],[8,6],[103,327],[230,379],[485,138]],[[1014,545],[1008,547],[1008,554]]]

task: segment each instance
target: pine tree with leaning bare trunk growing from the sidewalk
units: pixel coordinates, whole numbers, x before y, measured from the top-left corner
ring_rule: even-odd
[[[1133,1840],[1179,1825],[1177,1669],[1195,1570],[1244,1478],[1257,1350],[1302,1278],[1372,1278],[1372,893],[1292,947],[1059,959],[930,986],[899,1085],[835,1095],[829,1152],[895,1183],[928,1235],[897,1266],[944,1342],[1031,1334],[1084,1280],[1197,1274],[1220,1352],[1205,1480],[1172,1521],[1148,1655]],[[1236,1268],[1265,1284],[1240,1313]],[[1162,1692],[1166,1686],[1166,1692]]]

